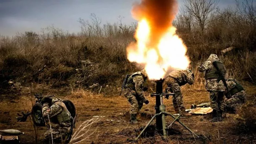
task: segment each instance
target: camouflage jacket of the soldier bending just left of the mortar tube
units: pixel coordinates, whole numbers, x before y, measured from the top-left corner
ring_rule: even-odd
[[[134,90],[136,95],[140,97],[143,102],[146,101],[144,97],[144,78],[141,75],[136,75],[132,78],[132,80],[127,81],[126,85],[124,86],[126,89]]]

